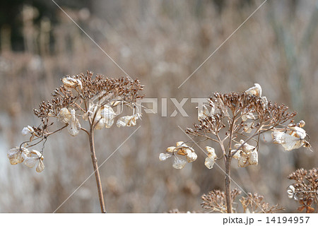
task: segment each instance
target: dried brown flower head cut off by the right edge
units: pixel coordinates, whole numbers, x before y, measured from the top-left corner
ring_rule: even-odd
[[[317,213],[318,203],[318,168],[297,169],[288,176],[295,183],[288,186],[288,198],[293,198],[300,203],[298,210],[306,213]]]

